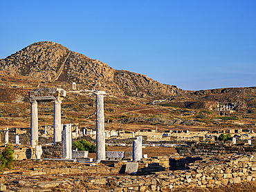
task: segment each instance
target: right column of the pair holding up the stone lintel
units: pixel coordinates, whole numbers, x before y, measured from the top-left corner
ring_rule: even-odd
[[[57,97],[54,103],[54,133],[53,133],[53,142],[54,144],[56,142],[61,142],[62,141],[62,111],[61,111],[61,106],[62,102],[60,101],[60,98]]]

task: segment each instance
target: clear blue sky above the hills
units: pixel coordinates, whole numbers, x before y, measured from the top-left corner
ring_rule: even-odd
[[[256,1],[1,1],[0,58],[54,41],[185,90],[256,86]]]

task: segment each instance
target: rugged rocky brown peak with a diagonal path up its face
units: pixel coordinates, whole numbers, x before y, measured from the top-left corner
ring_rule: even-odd
[[[0,71],[42,82],[74,81],[83,89],[98,88],[115,95],[157,99],[185,93],[185,90],[160,84],[146,75],[115,70],[102,61],[51,41],[31,44],[6,59],[0,59]]]

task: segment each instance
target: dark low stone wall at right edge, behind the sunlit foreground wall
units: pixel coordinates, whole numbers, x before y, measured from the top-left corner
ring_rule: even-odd
[[[255,146],[223,142],[186,144],[184,146],[177,146],[175,149],[181,156],[256,153]]]

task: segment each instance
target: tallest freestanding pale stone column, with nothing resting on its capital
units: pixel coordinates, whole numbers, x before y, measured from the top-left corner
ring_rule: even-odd
[[[96,95],[96,162],[105,160],[105,135],[104,135],[104,91],[95,91]]]

